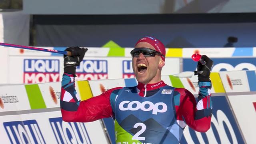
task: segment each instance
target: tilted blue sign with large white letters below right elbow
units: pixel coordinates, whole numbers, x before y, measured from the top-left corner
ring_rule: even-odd
[[[196,132],[186,126],[182,144],[243,144],[242,135],[232,115],[226,96],[212,96],[211,128],[207,132]]]

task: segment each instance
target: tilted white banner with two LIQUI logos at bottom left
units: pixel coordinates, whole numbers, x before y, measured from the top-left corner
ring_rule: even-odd
[[[49,112],[51,111],[51,112]],[[0,116],[3,144],[107,144],[100,120],[80,123],[64,122],[59,108],[28,110],[20,115]]]

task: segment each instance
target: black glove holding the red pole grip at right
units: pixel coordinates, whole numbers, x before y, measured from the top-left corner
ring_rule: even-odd
[[[202,65],[201,62],[198,61],[197,71],[194,71],[194,75],[198,75],[198,82],[210,82],[210,71],[213,61],[206,55],[202,55],[201,60],[205,61],[206,64]]]

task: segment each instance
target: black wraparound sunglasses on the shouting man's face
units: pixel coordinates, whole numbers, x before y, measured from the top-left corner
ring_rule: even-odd
[[[156,50],[152,50],[150,48],[134,48],[131,52],[132,57],[138,58],[140,53],[142,53],[145,57],[154,57],[157,55],[165,57],[163,54]]]

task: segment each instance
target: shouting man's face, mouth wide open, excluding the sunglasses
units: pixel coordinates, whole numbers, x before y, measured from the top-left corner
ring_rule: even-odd
[[[155,50],[155,48],[147,42],[140,42],[135,46],[135,48],[150,48]],[[154,57],[145,57],[140,53],[138,58],[132,58],[132,69],[136,79],[138,82],[143,84],[159,82],[161,80],[160,70],[162,66],[164,66],[164,62],[158,55]]]

